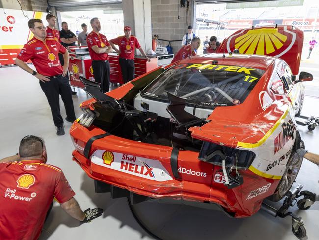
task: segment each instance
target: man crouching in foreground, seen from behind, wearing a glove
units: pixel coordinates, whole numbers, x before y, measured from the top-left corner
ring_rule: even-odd
[[[11,157],[9,162],[1,161],[1,240],[37,240],[53,198],[66,213],[82,223],[102,215],[103,210],[99,208],[84,212],[80,209],[62,170],[46,164],[46,147],[41,138],[24,137],[19,155]]]

